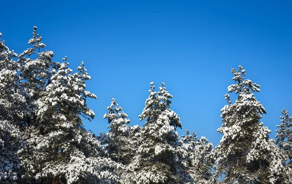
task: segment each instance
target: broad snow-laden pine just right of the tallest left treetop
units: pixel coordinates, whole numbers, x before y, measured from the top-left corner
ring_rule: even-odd
[[[116,183],[112,171],[119,166],[100,155],[103,147],[82,125],[82,117],[91,120],[94,113],[86,98],[96,98],[85,91],[90,79],[84,64],[72,74],[67,57],[37,100],[37,119],[25,134],[26,147],[20,160],[35,183]],[[45,66],[43,66],[45,67]],[[46,73],[46,72],[45,72]]]

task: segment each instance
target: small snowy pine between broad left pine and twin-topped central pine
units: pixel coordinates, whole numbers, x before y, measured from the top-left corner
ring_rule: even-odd
[[[113,161],[127,166],[136,152],[136,143],[131,138],[138,131],[138,127],[127,125],[130,123],[128,115],[118,107],[114,98],[107,109],[109,113],[104,118],[108,119],[110,130],[107,133],[106,150]]]

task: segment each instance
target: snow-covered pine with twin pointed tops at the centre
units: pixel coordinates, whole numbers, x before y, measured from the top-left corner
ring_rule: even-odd
[[[134,184],[180,184],[182,168],[178,156],[180,148],[176,128],[182,128],[179,116],[170,110],[172,95],[166,91],[164,83],[155,92],[150,83],[149,97],[139,116],[146,119],[140,129],[139,147],[130,164],[133,169]]]

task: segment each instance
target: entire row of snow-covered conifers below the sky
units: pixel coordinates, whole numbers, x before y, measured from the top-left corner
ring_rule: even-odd
[[[53,61],[36,26],[27,47],[16,54],[0,39],[1,184],[292,184],[292,116],[283,109],[270,138],[260,85],[242,66],[231,69],[218,145],[187,129],[178,135],[163,82],[150,83],[143,126],[129,126],[112,98],[109,131],[95,135],[83,126],[95,116],[86,99],[96,98],[85,64]]]

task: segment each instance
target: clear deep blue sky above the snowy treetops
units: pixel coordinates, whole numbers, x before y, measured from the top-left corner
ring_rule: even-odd
[[[19,54],[36,25],[54,60],[67,55],[73,70],[84,61],[91,75],[87,89],[97,95],[88,100],[96,117],[86,129],[107,131],[103,115],[112,97],[132,125],[142,126],[138,115],[149,83],[165,82],[183,130],[216,146],[224,94],[233,84],[230,69],[238,65],[261,85],[256,97],[267,110],[262,121],[272,138],[280,110],[292,116],[291,6],[288,0],[4,0],[0,32]]]

